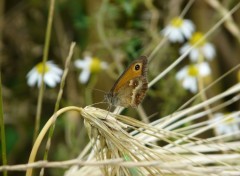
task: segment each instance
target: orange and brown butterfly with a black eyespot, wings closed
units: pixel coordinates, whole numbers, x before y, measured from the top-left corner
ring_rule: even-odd
[[[146,56],[134,60],[105,95],[107,102],[111,106],[137,108],[148,89],[147,70]]]

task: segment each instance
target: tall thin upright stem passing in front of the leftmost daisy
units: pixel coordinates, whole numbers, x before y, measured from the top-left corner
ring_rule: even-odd
[[[49,7],[49,15],[48,15],[48,23],[47,23],[47,29],[46,29],[46,36],[45,36],[45,44],[44,44],[44,51],[43,51],[43,72],[42,72],[42,81],[41,86],[38,94],[38,104],[37,104],[37,112],[36,112],[36,122],[35,122],[35,129],[34,129],[34,135],[33,135],[33,141],[35,141],[39,127],[40,127],[40,117],[41,117],[41,111],[42,111],[42,101],[43,101],[43,94],[44,94],[44,72],[45,72],[45,63],[47,61],[48,52],[49,52],[49,45],[50,45],[50,38],[51,38],[51,29],[52,29],[52,21],[53,21],[53,13],[54,13],[54,4],[55,0],[50,1],[50,7]]]

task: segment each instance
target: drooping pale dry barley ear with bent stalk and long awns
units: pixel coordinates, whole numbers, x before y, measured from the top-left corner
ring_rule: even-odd
[[[152,124],[145,124],[132,117],[90,106],[63,108],[46,123],[36,140],[29,162],[34,161],[41,140],[51,124],[54,123],[54,119],[64,112],[74,110],[78,111],[84,119],[85,128],[91,139],[92,150],[90,153],[84,152],[85,154],[79,160],[73,160],[71,163],[69,163],[70,161],[62,162],[61,165],[55,164],[55,167],[73,165],[67,175],[80,174],[84,176],[90,173],[93,176],[237,175],[240,173],[240,132],[206,139],[199,137],[203,133],[211,131],[223,120],[228,120],[230,115],[215,123],[207,120],[188,127],[184,127],[182,124],[206,115],[205,104],[216,103],[229,95],[233,96],[231,103],[238,101],[239,92],[240,84],[236,84],[205,102],[163,117]],[[229,103],[226,102],[221,107],[227,106]],[[218,109],[219,105],[213,106],[213,111],[214,108]],[[231,115],[239,116],[240,111]],[[84,163],[83,160],[96,161],[96,163]],[[105,163],[97,161],[105,161]],[[39,164],[42,167],[51,166],[51,163]],[[27,170],[27,175],[31,175],[31,169]]]

